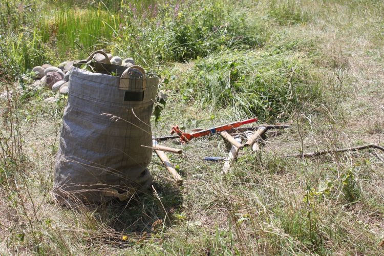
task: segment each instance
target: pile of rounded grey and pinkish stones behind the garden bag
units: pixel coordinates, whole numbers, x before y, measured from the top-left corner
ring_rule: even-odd
[[[112,54],[110,53],[107,53],[106,55],[108,55],[112,64],[121,65],[124,67],[130,67],[135,65],[135,61],[133,58],[126,58],[122,60],[119,56],[112,56]],[[95,54],[93,57],[99,62],[105,62],[104,55],[100,53]],[[55,97],[47,98],[44,101],[56,102],[59,100],[60,94],[69,93],[68,80],[70,74],[68,71],[71,69],[74,63],[79,61],[80,60],[65,61],[60,63],[60,65],[58,65],[57,67],[53,67],[49,64],[44,64],[42,66],[37,66],[32,69],[32,72],[36,74],[35,79],[38,79],[37,81],[35,81],[35,85],[41,84],[41,86],[52,90],[52,92],[57,92]]]

